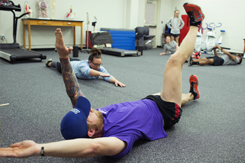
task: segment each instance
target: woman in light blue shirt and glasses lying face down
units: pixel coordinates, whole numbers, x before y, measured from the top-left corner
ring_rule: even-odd
[[[70,59],[71,66],[78,79],[98,79],[101,76],[105,81],[114,83],[115,86],[125,87],[126,85],[111,76],[101,65],[102,56],[100,49],[93,48],[90,51],[88,60]],[[48,59],[45,63],[47,67],[56,68],[61,73],[60,62],[53,62]]]

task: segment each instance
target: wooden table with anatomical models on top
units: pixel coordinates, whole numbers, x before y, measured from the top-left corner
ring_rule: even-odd
[[[29,39],[29,50],[31,50],[31,25],[37,26],[58,26],[58,27],[73,27],[73,45],[76,45],[76,26],[81,27],[81,49],[83,48],[83,21],[76,20],[57,20],[57,19],[36,19],[36,18],[25,18],[22,19],[23,25],[23,42],[24,48],[26,49],[26,39],[25,39],[25,25],[28,26],[28,39]]]

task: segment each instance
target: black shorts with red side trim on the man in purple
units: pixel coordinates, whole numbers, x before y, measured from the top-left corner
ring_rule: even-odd
[[[149,95],[144,99],[152,100],[157,104],[164,120],[164,128],[170,128],[179,122],[182,109],[178,104],[173,102],[166,102],[162,100],[159,95]]]

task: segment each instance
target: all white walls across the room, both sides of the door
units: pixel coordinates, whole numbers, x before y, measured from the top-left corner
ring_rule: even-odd
[[[16,12],[19,16],[24,11],[24,3],[26,0],[15,1],[21,4],[22,12]],[[51,0],[46,0],[49,5]],[[228,3],[229,2],[229,3]],[[183,8],[185,0],[158,0],[159,19],[157,22],[158,35],[162,35],[167,20],[173,16],[175,8],[180,10],[180,14],[185,14]],[[245,1],[244,0],[189,0],[189,3],[195,3],[202,7],[205,13],[205,23],[221,22],[223,26],[220,29],[226,30],[223,36],[223,45],[236,50],[243,49],[243,39],[245,38]],[[33,17],[37,18],[36,0],[29,0],[29,5],[33,10]],[[97,17],[96,31],[101,27],[108,28],[128,28],[134,29],[137,26],[144,25],[145,0],[56,0],[55,19],[65,19],[66,13],[70,6],[73,12],[76,13],[75,20],[84,21],[83,25],[83,44],[85,44],[85,31],[87,29],[87,12],[90,16],[89,30],[93,30],[91,22],[94,21],[94,16]],[[235,7],[231,7],[235,6]],[[51,17],[51,11],[49,11]],[[0,11],[0,34],[4,34],[8,42],[13,42],[12,13]],[[56,27],[32,27],[32,48],[48,48],[54,47],[54,30]],[[67,46],[73,44],[73,30],[69,27],[62,27],[65,43]],[[80,28],[76,28],[77,37],[76,44],[80,44]],[[217,29],[219,35],[219,29]],[[205,32],[204,32],[205,36]],[[27,28],[26,41],[28,43]],[[159,37],[157,45],[161,45],[161,37]],[[17,42],[23,45],[22,22],[18,22]],[[28,47],[28,46],[27,46]]]

